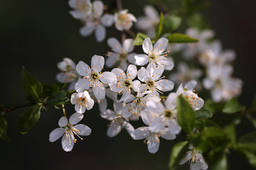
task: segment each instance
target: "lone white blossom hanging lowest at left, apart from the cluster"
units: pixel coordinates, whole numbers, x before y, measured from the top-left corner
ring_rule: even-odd
[[[82,124],[75,125],[80,120],[82,120],[83,117],[84,117],[84,114],[80,114],[80,113],[72,114],[69,120],[64,116],[61,117],[59,120],[60,128],[53,130],[49,134],[49,141],[55,142],[57,141],[57,139],[59,139],[63,135],[61,139],[61,145],[63,147],[63,150],[66,152],[72,151],[73,146],[77,141],[77,139],[75,138],[75,135],[80,139],[82,139],[80,136],[88,136],[92,131],[86,125],[82,125]]]

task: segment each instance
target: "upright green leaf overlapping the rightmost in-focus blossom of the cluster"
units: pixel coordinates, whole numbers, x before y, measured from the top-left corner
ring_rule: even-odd
[[[181,95],[177,98],[177,109],[177,120],[179,125],[184,131],[191,134],[195,125],[196,116],[191,105]]]

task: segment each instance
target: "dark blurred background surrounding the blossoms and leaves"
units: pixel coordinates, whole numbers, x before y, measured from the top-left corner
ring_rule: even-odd
[[[115,4],[114,0],[103,2],[109,6]],[[144,15],[142,8],[146,3],[148,1],[122,1],[123,8],[135,16]],[[234,76],[244,82],[239,100],[249,107],[256,87],[256,3],[254,0],[214,0],[210,3],[211,6],[202,11],[203,15],[216,32],[216,39],[222,41],[223,48],[236,51]],[[179,3],[168,1],[168,6],[175,8]],[[64,0],[0,2],[0,103],[20,104],[26,98],[20,77],[22,66],[40,82],[56,83],[57,62],[69,57],[76,63],[90,63],[94,54],[105,56],[110,50],[106,45],[109,37],[121,36],[114,26],[107,28],[106,39],[100,43],[95,41],[94,34],[80,36],[81,23],[72,18],[68,13],[70,10],[68,1]],[[73,107],[66,107],[69,116],[75,112]],[[77,139],[72,152],[65,152],[60,139],[53,143],[48,139],[49,133],[59,128],[57,122],[63,115],[61,109],[42,111],[37,124],[22,135],[17,129],[17,122],[18,114],[25,109],[5,114],[11,141],[0,141],[1,169],[168,169],[171,148],[182,139],[181,134],[173,141],[160,139],[158,152],[150,154],[143,140],[134,141],[125,130],[109,138],[106,136],[109,121],[100,117],[96,105],[85,112],[81,121],[92,129],[92,134],[84,137],[84,141]],[[141,125],[142,122],[135,122],[134,128]],[[238,136],[255,130],[247,120],[242,120],[237,129]],[[231,153],[228,156],[229,169],[252,169],[240,155]],[[188,169],[188,165],[180,169]]]

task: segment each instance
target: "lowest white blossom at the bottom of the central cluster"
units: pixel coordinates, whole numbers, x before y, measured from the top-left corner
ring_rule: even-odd
[[[144,143],[147,143],[148,151],[151,154],[155,154],[155,152],[158,151],[160,140],[159,137],[162,137],[167,140],[172,140],[176,138],[175,134],[170,133],[170,130],[168,128],[163,128],[158,131],[151,131],[151,124],[155,120],[155,115],[148,112],[148,110],[145,110],[141,113],[142,121],[144,124],[148,126],[143,126],[141,128],[135,129],[131,133],[131,137],[134,140],[140,140],[144,139]]]

